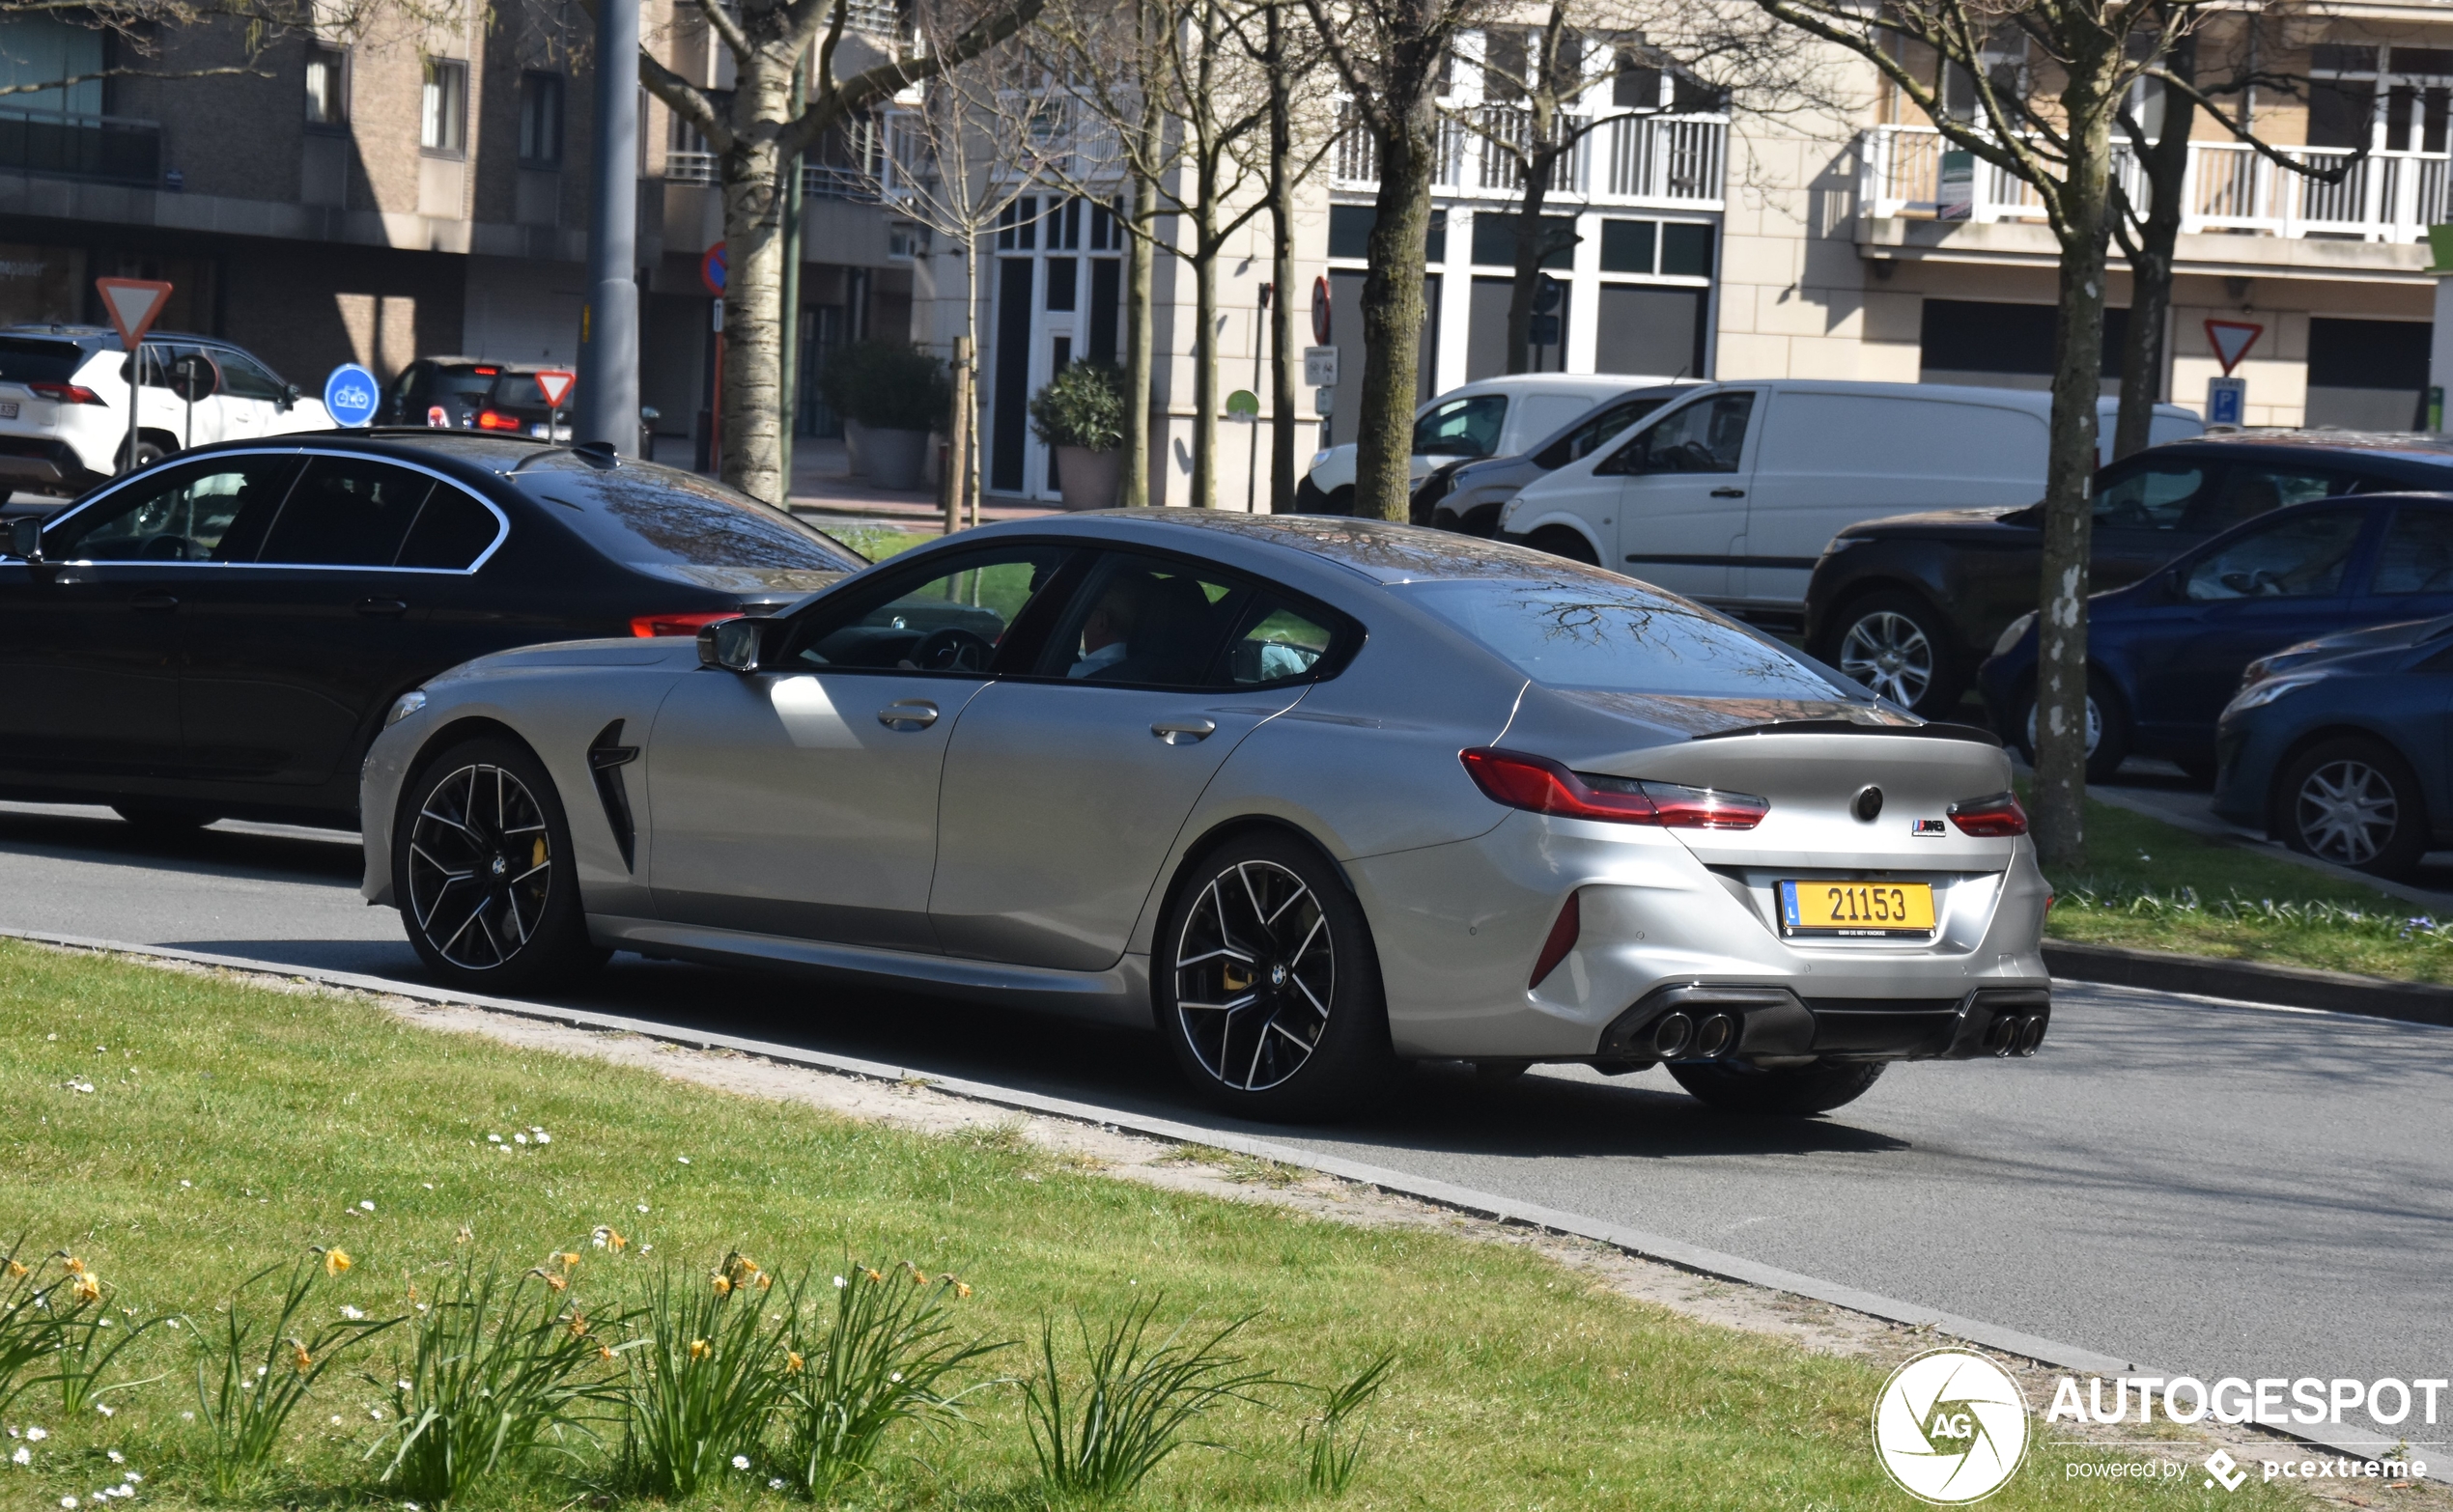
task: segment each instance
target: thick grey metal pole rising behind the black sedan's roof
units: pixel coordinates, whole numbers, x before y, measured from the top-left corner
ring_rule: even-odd
[[[596,5],[589,299],[579,314],[576,441],[638,456],[638,5]]]

